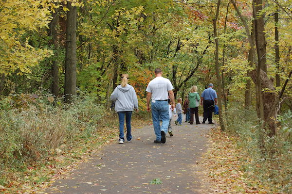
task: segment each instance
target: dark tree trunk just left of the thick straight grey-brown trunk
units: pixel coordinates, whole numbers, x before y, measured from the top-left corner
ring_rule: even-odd
[[[51,84],[51,92],[52,94],[55,95],[55,97],[59,96],[59,64],[58,64],[58,48],[59,48],[59,40],[58,40],[58,36],[57,36],[57,24],[58,24],[58,20],[59,20],[59,15],[57,14],[57,12],[52,14],[53,19],[51,20],[50,23],[50,36],[52,37],[51,40],[51,45],[54,45],[55,49],[54,49],[54,56],[52,58],[52,71],[51,71],[51,75],[52,75],[52,84]]]

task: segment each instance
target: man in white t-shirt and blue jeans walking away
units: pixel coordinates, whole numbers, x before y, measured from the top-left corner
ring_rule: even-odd
[[[173,86],[171,82],[162,77],[162,70],[160,68],[155,69],[155,76],[153,80],[148,83],[146,88],[147,92],[147,111],[152,113],[152,121],[156,140],[154,143],[165,143],[165,134],[169,124],[169,112],[168,112],[168,96],[171,100],[171,110],[175,108]],[[150,109],[151,100],[151,109]],[[162,126],[160,126],[160,120],[162,120]]]

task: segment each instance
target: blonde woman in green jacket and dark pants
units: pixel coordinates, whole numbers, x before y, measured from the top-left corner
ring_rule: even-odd
[[[189,99],[189,107],[191,109],[191,125],[194,123],[194,113],[196,117],[196,124],[200,124],[199,121],[199,101],[200,101],[200,95],[197,92],[198,87],[196,85],[193,85],[191,87],[191,92],[188,94]]]

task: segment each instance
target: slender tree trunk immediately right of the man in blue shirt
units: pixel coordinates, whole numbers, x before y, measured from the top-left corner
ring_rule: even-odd
[[[215,66],[216,66],[216,77],[217,77],[217,82],[218,82],[218,106],[219,106],[219,123],[220,123],[220,128],[221,130],[225,130],[225,124],[224,124],[224,119],[223,119],[223,111],[222,111],[222,81],[221,81],[221,76],[220,76],[220,71],[219,71],[219,41],[217,37],[217,19],[219,15],[219,8],[220,8],[220,3],[221,0],[218,0],[217,2],[217,11],[216,11],[216,16],[213,19],[213,27],[214,27],[214,36],[215,36]]]

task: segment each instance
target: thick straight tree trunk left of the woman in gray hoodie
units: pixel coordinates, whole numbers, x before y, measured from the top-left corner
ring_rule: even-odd
[[[65,59],[65,102],[72,102],[76,95],[76,22],[77,8],[67,2],[66,59]]]

